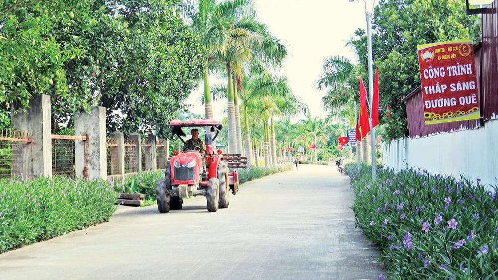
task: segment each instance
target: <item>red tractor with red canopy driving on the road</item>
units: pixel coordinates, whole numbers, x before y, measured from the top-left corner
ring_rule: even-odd
[[[178,136],[185,144],[183,127],[207,127],[206,154],[199,153],[197,146],[185,147],[184,151],[175,151],[168,163],[166,163],[165,179],[157,182],[156,197],[159,212],[166,213],[170,209],[181,209],[183,198],[189,196],[204,195],[207,198],[209,212],[216,212],[218,208],[227,208],[229,191],[233,194],[239,191],[239,176],[237,170],[229,173],[229,163],[224,160],[221,150],[213,151],[213,141],[220,133],[223,125],[213,119],[172,120],[169,124],[173,134]],[[239,157],[231,155],[230,161],[240,161]],[[203,176],[203,162],[206,163],[206,173]],[[237,165],[239,166],[239,165]]]

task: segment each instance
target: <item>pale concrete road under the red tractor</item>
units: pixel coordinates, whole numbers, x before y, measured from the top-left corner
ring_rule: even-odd
[[[377,279],[386,274],[355,228],[349,178],[301,165],[252,181],[210,213],[119,206],[111,221],[0,254],[0,279]]]

